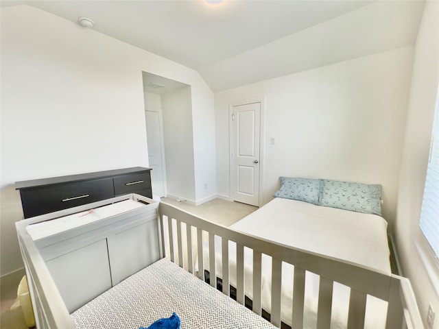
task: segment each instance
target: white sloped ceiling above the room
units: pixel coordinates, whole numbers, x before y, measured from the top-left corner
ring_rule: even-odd
[[[413,45],[424,1],[1,1],[195,69],[213,91]]]

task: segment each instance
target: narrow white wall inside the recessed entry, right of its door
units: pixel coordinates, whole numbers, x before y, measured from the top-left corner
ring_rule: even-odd
[[[162,95],[167,193],[195,203],[191,87]]]

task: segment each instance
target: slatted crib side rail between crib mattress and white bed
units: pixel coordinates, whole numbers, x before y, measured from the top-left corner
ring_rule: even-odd
[[[236,297],[245,303],[244,248],[252,250],[252,309],[261,315],[261,256],[272,259],[270,321],[281,326],[282,264],[294,265],[293,305],[290,319],[292,328],[304,326],[305,273],[310,271],[320,276],[317,309],[317,328],[329,328],[334,282],[350,287],[347,328],[364,328],[368,295],[388,303],[385,328],[424,328],[416,300],[406,278],[381,273],[329,256],[322,256],[274,243],[255,236],[242,234],[230,228],[200,219],[195,215],[169,204],[161,203],[162,252],[174,263],[204,279],[204,269],[209,269],[210,284],[215,287],[217,257],[222,262],[222,291],[230,295],[230,253],[228,241],[236,243]],[[215,236],[220,237],[221,251],[215,247]],[[206,249],[205,245],[209,245]],[[204,264],[204,254],[209,255]]]

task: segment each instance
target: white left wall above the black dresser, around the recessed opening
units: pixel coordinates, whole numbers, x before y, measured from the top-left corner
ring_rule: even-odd
[[[147,167],[142,71],[190,85],[193,120],[213,118],[196,71],[31,6],[1,8],[1,275],[22,267],[14,182]]]

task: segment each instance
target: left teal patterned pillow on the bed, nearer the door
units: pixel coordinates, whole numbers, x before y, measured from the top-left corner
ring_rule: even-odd
[[[281,188],[274,193],[274,197],[293,199],[310,204],[319,204],[320,180],[308,178],[281,177]]]

